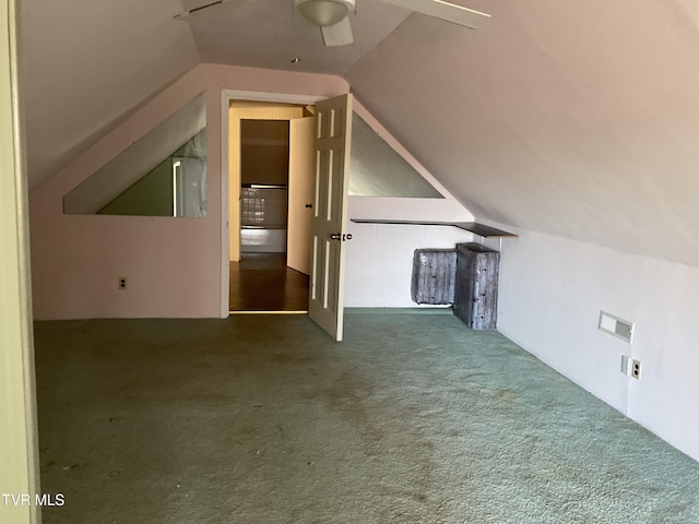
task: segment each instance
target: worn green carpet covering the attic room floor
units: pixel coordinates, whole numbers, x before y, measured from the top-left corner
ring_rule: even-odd
[[[699,523],[699,464],[449,312],[36,324],[45,524]],[[565,348],[561,348],[565,350]]]

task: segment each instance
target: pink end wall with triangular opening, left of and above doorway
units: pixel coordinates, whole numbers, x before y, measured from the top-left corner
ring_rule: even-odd
[[[200,64],[31,195],[37,320],[217,318],[222,303],[222,90],[333,96],[337,76]],[[205,218],[63,215],[62,196],[197,94],[209,128]],[[117,278],[129,279],[127,290]]]

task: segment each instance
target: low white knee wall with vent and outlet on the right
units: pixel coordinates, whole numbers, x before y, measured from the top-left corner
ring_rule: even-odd
[[[699,269],[519,233],[501,242],[498,330],[699,460]],[[632,345],[597,329],[600,310],[636,323]],[[640,381],[623,355],[641,360]]]

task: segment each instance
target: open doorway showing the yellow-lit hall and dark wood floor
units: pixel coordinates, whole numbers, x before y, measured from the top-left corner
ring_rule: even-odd
[[[229,311],[306,312],[312,117],[304,106],[248,103],[232,105],[230,111],[235,122],[230,167],[237,170],[230,183],[236,183],[239,196],[230,201],[238,224],[232,221],[237,257],[232,249]]]

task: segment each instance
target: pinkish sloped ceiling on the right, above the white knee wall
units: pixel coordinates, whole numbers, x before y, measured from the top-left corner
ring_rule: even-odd
[[[476,216],[699,264],[696,4],[487,11],[411,17],[346,79]]]

